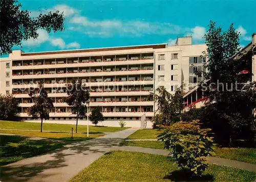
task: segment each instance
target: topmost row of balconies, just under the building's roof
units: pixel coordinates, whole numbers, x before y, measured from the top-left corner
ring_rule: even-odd
[[[114,56],[93,56],[93,57],[75,57],[75,58],[57,58],[57,59],[41,59],[41,60],[17,60],[13,61],[12,66],[28,66],[28,65],[51,65],[51,64],[75,64],[89,62],[111,62],[111,61],[136,61],[154,59],[153,53],[136,54],[136,55],[114,55]]]

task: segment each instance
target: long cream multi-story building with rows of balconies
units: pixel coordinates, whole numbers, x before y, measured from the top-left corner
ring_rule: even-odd
[[[104,126],[118,126],[118,121],[124,120],[128,127],[140,127],[145,114],[147,127],[151,127],[157,108],[148,99],[150,93],[159,86],[172,93],[182,84],[196,84],[198,78],[190,64],[200,69],[200,56],[205,50],[205,44],[193,45],[192,37],[179,37],[174,46],[161,43],[35,53],[14,50],[8,58],[0,59],[0,93],[18,98],[18,116],[35,122],[27,113],[33,104],[28,92],[42,80],[54,102],[46,122],[75,123],[72,107],[62,98],[66,96],[66,84],[80,78],[90,87],[89,111],[100,107]],[[87,124],[86,120],[79,124]]]

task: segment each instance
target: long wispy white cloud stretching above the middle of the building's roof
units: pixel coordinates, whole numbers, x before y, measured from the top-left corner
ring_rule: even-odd
[[[184,34],[189,29],[162,22],[146,22],[140,20],[90,20],[85,16],[74,16],[69,30],[83,31],[90,36],[141,36],[144,34]]]

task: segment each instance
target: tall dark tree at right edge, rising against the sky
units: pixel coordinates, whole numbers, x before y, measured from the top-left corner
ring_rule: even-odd
[[[218,128],[226,127],[230,145],[236,137],[252,140],[255,136],[255,82],[244,88],[251,81],[251,57],[255,48],[241,52],[239,36],[233,24],[223,31],[216,26],[216,22],[210,21],[204,36],[207,51],[203,56],[207,57],[204,63],[207,72],[197,72],[198,76],[210,79],[204,85],[207,88],[204,94],[208,96],[209,104],[214,103],[215,113],[222,121]]]

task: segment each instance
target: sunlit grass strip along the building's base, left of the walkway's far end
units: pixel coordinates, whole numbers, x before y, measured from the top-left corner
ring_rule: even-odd
[[[87,132],[86,125],[79,125],[85,121],[78,121],[78,131]],[[16,122],[16,121],[0,121],[0,129],[26,129],[26,130],[40,130],[41,123],[32,122]],[[54,123],[43,123],[43,131],[71,131],[71,128],[76,128],[76,125],[72,124],[54,124]],[[126,128],[121,127],[103,127],[103,126],[89,126],[90,132],[116,132]]]

